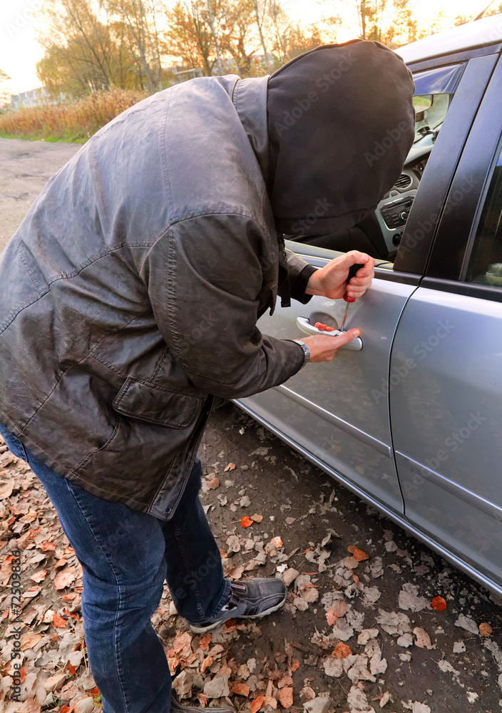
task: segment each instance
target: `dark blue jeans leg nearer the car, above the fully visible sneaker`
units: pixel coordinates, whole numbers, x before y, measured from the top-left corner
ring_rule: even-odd
[[[192,624],[210,621],[230,597],[230,581],[223,577],[220,550],[198,497],[201,476],[197,458],[173,518],[160,524],[170,593]]]

